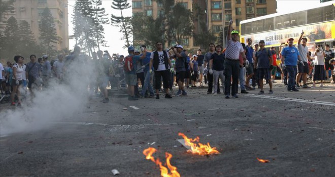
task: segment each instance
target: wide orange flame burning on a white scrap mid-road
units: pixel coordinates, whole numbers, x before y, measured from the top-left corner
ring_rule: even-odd
[[[187,138],[183,133],[179,133],[179,136],[182,136],[185,140],[185,145],[190,146],[191,150],[187,150],[187,152],[190,152],[192,154],[199,154],[199,155],[209,155],[209,154],[220,154],[219,151],[216,150],[216,148],[212,148],[209,143],[207,145],[204,145],[202,143],[193,143],[193,142],[199,142],[199,137],[196,137],[195,139]]]

